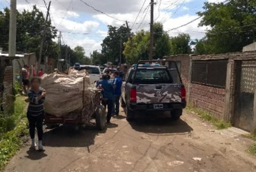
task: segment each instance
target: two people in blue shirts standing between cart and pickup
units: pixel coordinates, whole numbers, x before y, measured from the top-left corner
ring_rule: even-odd
[[[110,80],[110,72],[102,74],[100,80],[97,81],[96,86],[102,89],[103,105],[108,107],[107,123],[110,123],[111,116],[119,115],[119,102],[121,96],[122,78],[120,77],[121,71],[114,72],[114,80]]]

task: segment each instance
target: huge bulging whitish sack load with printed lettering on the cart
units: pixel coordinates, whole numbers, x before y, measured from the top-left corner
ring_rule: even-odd
[[[100,101],[99,91],[91,85],[85,70],[44,75],[42,87],[47,93],[45,112],[56,117],[81,117],[88,123]]]

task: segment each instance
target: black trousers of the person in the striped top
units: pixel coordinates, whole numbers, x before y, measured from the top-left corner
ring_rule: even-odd
[[[43,139],[43,120],[44,112],[38,116],[32,116],[31,112],[27,112],[27,118],[29,123],[29,134],[30,138],[35,138],[35,129],[37,129],[38,140]]]

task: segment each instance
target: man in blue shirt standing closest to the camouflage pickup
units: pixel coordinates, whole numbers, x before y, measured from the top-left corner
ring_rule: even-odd
[[[113,107],[113,114],[119,115],[119,100],[121,96],[121,87],[122,87],[122,79],[119,77],[119,71],[114,72],[114,107]]]

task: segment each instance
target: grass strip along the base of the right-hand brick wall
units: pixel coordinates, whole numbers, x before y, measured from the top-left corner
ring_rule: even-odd
[[[218,119],[218,118],[214,117],[213,115],[211,115],[209,112],[204,111],[200,108],[187,106],[186,110],[188,110],[190,112],[195,112],[196,114],[198,114],[200,116],[200,118],[211,122],[214,126],[217,127],[217,129],[225,129],[225,128],[232,126],[230,122],[226,122],[221,119]]]

